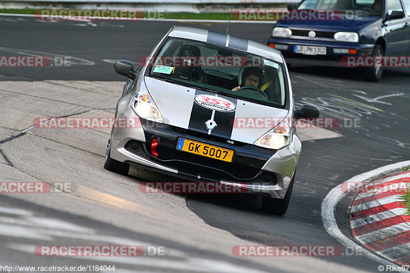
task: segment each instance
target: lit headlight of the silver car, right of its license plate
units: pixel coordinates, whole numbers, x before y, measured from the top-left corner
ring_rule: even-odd
[[[279,150],[284,146],[289,145],[290,142],[291,129],[288,124],[282,121],[267,134],[256,140],[254,144],[263,148]]]

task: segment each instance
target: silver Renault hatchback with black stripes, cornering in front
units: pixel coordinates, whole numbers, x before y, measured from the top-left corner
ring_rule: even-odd
[[[288,69],[278,50],[209,30],[172,27],[134,68],[118,100],[105,169],[128,174],[130,164],[190,181],[245,188],[262,209],[288,208],[301,142],[292,125],[318,117],[295,110]],[[127,123],[127,122],[126,122]]]

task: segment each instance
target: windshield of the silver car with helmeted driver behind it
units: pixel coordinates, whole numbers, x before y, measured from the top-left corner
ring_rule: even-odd
[[[150,77],[276,108],[285,105],[283,64],[271,59],[206,42],[169,38],[149,64]]]

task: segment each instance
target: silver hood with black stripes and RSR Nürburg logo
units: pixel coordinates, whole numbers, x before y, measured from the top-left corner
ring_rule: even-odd
[[[164,123],[229,140],[253,144],[289,113],[151,77],[145,77],[145,84]],[[216,123],[212,130],[206,125],[210,120]]]

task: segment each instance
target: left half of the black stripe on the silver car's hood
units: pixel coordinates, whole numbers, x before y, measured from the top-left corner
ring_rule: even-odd
[[[195,90],[195,96],[197,95],[214,96],[215,94],[203,90]],[[189,119],[188,129],[208,134],[208,129],[205,125],[205,122],[211,119],[212,109],[200,106],[198,103],[195,102],[195,100],[192,103],[192,111],[191,117]]]

